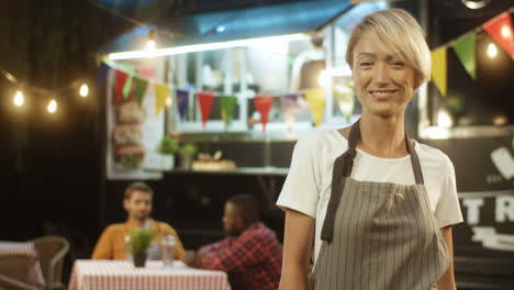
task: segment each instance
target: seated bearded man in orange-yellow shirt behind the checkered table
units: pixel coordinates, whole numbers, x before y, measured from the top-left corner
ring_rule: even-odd
[[[127,213],[127,220],[125,223],[111,224],[105,227],[94,246],[92,259],[126,259],[124,238],[131,232],[132,227],[138,226],[153,228],[156,234],[157,243],[166,235],[175,236],[175,258],[186,260],[186,250],[175,228],[167,223],[154,221],[149,217],[153,197],[154,191],[144,182],[133,182],[125,189],[123,208]],[[155,245],[153,249],[153,252],[158,252],[158,247]],[[159,253],[157,253],[157,255],[159,255]],[[155,253],[154,255],[150,253],[149,257],[152,256],[155,258]]]

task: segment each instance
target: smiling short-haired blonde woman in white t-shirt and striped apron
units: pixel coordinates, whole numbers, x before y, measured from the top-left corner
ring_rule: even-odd
[[[314,289],[455,289],[451,226],[462,215],[454,166],[404,130],[431,74],[423,31],[403,10],[372,13],[346,60],[362,115],[294,147],[277,202],[286,210],[280,289],[306,289],[312,248]]]

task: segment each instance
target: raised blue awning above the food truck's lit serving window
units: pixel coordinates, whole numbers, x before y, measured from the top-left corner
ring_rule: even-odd
[[[160,19],[153,25],[158,31],[157,45],[170,47],[314,31],[350,8],[349,0],[308,0]],[[104,45],[99,53],[142,49],[148,32],[146,26],[135,27]],[[171,38],[170,33],[177,36]]]

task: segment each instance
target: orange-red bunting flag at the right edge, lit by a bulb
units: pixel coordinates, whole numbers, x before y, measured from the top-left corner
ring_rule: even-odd
[[[503,12],[482,25],[493,40],[514,59],[514,35],[511,13]]]

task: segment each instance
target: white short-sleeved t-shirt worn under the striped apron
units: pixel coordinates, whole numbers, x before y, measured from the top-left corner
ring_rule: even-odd
[[[336,130],[316,129],[301,137],[294,146],[291,167],[277,205],[316,219],[314,260],[321,248],[321,230],[331,198],[332,170],[335,159],[348,148],[348,141]],[[438,149],[415,142],[431,208],[439,227],[462,222],[455,170],[448,156]],[[411,156],[380,158],[357,148],[351,169],[359,181],[414,185]]]

